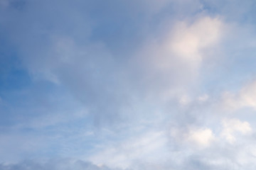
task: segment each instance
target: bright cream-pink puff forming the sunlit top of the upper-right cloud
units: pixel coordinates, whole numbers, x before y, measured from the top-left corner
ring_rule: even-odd
[[[192,24],[181,22],[174,29],[171,42],[166,48],[178,57],[192,63],[201,63],[201,50],[211,47],[220,40],[223,23],[219,18],[203,17]]]

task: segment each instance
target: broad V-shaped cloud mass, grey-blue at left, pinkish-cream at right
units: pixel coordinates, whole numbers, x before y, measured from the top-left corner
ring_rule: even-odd
[[[95,16],[92,21],[92,11],[77,8],[87,5],[96,8],[94,3],[87,3],[65,1],[59,6],[58,1],[53,1],[48,8],[46,3],[26,1],[26,10],[16,11],[20,15],[10,11],[15,17],[3,22],[33,81],[43,79],[66,89],[87,107],[88,113],[95,117],[95,125],[115,125],[120,120],[133,118],[124,111],[143,98],[154,102],[186,96],[186,90],[196,84],[198,69],[205,57],[203,50],[220,40],[223,23],[219,18],[202,16],[177,21],[175,26],[166,24],[169,28],[156,34],[160,38],[154,40],[150,34],[145,35],[141,40],[143,45],[132,52],[126,49],[119,54],[117,47],[110,47],[112,40],[97,38],[100,29],[97,24],[102,23],[101,19]],[[155,7],[154,3],[151,1],[150,6]],[[167,1],[161,3],[169,4]],[[115,10],[113,13],[118,12]],[[45,18],[42,11],[47,13]],[[119,21],[122,17],[126,17],[125,13],[112,19]],[[112,23],[112,20],[107,18],[106,22]],[[112,27],[119,29],[119,24]]]

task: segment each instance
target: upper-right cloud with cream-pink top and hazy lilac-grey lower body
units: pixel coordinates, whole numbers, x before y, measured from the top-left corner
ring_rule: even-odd
[[[206,51],[218,46],[225,24],[220,18],[202,16],[166,25],[159,36],[149,36],[132,61],[139,67],[142,91],[164,101],[187,94],[198,83],[199,69],[208,59]]]

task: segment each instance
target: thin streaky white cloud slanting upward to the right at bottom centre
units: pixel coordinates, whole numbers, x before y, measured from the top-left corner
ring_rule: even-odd
[[[164,132],[146,132],[125,141],[114,142],[103,147],[100,152],[90,157],[95,164],[106,164],[110,167],[124,169],[134,165],[134,162],[161,162],[166,152],[166,136]]]

